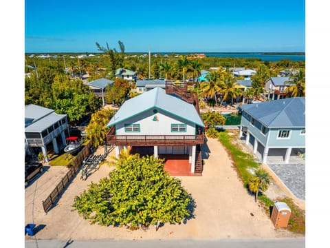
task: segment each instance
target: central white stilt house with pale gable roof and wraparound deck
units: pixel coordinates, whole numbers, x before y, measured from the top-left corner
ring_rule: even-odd
[[[156,87],[125,101],[107,124],[111,127],[107,143],[115,145],[116,156],[127,147],[148,147],[149,155],[155,158],[159,154],[181,154],[189,161],[190,172],[197,173],[197,158],[201,169],[203,121],[193,104],[166,94],[166,90]]]

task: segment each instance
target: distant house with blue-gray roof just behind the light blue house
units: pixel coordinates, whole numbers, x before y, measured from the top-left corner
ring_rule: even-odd
[[[271,100],[283,99],[287,96],[285,89],[289,81],[288,76],[274,76],[265,81],[265,98]]]

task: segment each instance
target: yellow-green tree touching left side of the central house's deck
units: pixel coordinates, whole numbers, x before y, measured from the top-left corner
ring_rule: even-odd
[[[91,121],[89,121],[89,124],[86,127],[86,137],[90,141],[93,141],[94,147],[102,145],[109,130],[109,128],[107,128],[107,123],[109,123],[113,114],[113,110],[108,109],[102,109],[91,114]]]

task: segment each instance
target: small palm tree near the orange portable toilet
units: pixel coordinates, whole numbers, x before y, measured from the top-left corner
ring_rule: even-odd
[[[254,172],[254,176],[251,176],[248,181],[248,186],[250,192],[255,194],[254,200],[258,199],[259,191],[265,191],[270,185],[270,175],[265,171],[265,169],[257,169]]]

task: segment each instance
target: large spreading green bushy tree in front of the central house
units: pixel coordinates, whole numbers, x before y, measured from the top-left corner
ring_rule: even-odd
[[[138,229],[181,223],[192,216],[191,203],[179,179],[164,171],[163,160],[135,154],[120,157],[109,177],[91,183],[72,207],[92,224]]]

